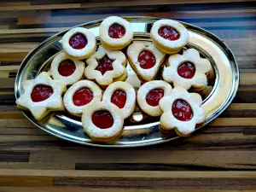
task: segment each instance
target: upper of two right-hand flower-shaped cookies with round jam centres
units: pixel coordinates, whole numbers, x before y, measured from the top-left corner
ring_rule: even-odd
[[[174,87],[183,86],[189,90],[192,86],[202,90],[207,86],[207,73],[212,69],[210,61],[200,57],[196,49],[187,49],[183,55],[171,55],[166,61],[162,77]]]

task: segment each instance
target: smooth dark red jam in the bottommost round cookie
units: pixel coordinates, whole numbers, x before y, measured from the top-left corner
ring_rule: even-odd
[[[107,110],[96,111],[91,116],[92,123],[101,129],[108,129],[113,125],[112,114]]]

